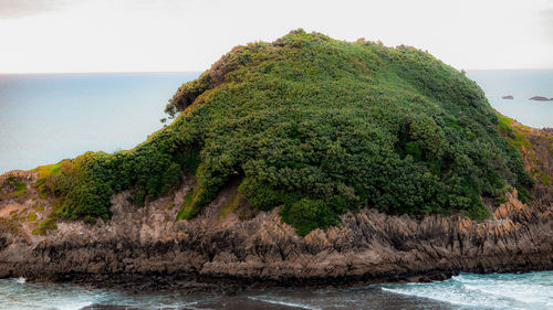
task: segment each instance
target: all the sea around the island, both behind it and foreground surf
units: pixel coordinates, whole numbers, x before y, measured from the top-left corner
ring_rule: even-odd
[[[0,75],[0,173],[85,151],[129,149],[163,127],[167,100],[199,73]],[[553,127],[553,71],[469,71],[493,108]],[[502,99],[511,95],[513,99]],[[462,274],[431,284],[268,289],[236,296],[134,293],[0,279],[0,309],[553,309],[553,271]]]

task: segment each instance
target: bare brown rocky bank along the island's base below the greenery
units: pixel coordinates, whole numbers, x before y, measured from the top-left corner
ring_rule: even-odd
[[[49,222],[55,200],[41,197],[34,174],[0,188],[0,278],[72,281],[135,290],[232,292],[244,287],[326,286],[429,281],[461,271],[553,269],[553,135],[513,122],[534,173],[533,200],[517,191],[489,205],[491,217],[461,214],[387,215],[363,209],[340,227],[302,237],[278,210],[258,212],[240,199],[237,182],[191,221],[175,222],[195,180],[144,207],[128,192],[112,197],[113,218]],[[30,173],[30,172],[29,172]],[[38,229],[40,228],[40,229]]]

